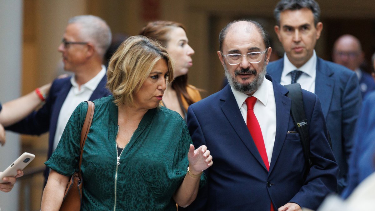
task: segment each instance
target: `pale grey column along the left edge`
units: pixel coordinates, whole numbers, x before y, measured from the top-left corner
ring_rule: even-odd
[[[22,0],[0,1],[0,8],[0,102],[4,103],[20,95]],[[20,155],[20,137],[7,132],[6,144],[0,146],[0,171],[4,171]],[[19,210],[16,203],[19,193],[19,185],[9,193],[0,191],[0,209]]]

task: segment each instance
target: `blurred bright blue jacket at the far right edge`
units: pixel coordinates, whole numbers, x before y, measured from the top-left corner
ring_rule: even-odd
[[[363,101],[363,109],[354,135],[354,149],[350,157],[349,184],[342,196],[348,197],[364,179],[375,172],[375,92]]]

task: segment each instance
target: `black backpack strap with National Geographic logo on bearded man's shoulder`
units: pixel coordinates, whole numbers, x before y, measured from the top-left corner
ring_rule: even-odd
[[[296,125],[297,132],[300,134],[303,154],[307,164],[307,172],[312,166],[310,159],[310,139],[309,139],[309,125],[305,115],[305,109],[303,107],[302,89],[299,83],[284,85],[289,90],[287,97],[291,101],[291,114]],[[307,175],[306,172],[306,175]]]

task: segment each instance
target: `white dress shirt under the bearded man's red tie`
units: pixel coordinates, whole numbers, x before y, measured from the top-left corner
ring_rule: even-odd
[[[245,99],[249,96],[245,93],[234,90],[232,87],[234,98],[246,123],[248,106]],[[268,162],[271,164],[273,145],[276,137],[276,101],[275,93],[273,93],[272,82],[264,78],[263,83],[257,91],[252,95],[257,98],[254,105],[254,114],[258,119],[260,129],[262,131],[264,146],[266,147]]]

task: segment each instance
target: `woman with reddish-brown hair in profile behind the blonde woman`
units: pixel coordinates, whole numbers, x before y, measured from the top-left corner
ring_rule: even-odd
[[[159,41],[174,62],[175,79],[167,84],[161,103],[186,119],[189,105],[202,98],[199,90],[187,83],[187,71],[193,65],[191,56],[195,52],[188,44],[185,27],[173,21],[154,21],[143,27],[139,35]]]

